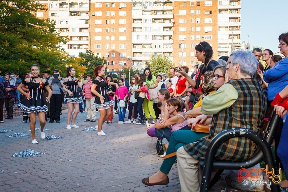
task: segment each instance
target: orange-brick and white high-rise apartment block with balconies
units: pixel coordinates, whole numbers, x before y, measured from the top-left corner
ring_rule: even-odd
[[[207,41],[213,58],[229,55],[240,43],[241,0],[42,0],[55,30],[67,36],[69,55],[90,49],[104,56],[108,71],[123,66],[143,70],[154,55],[167,55],[175,66],[198,63],[195,46]],[[128,57],[131,57],[129,60]],[[129,57],[129,58],[130,58]]]

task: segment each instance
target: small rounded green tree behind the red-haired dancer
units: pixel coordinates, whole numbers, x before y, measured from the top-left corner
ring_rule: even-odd
[[[82,59],[80,65],[86,67],[85,75],[90,73],[94,76],[94,68],[106,64],[105,57],[99,57],[99,53],[94,55],[91,50],[86,50],[85,53],[80,52],[79,57]]]

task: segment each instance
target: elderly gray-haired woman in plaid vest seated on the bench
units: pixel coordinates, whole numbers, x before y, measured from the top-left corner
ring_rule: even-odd
[[[246,128],[260,133],[267,107],[260,82],[252,78],[258,62],[250,51],[235,51],[230,56],[225,79],[230,80],[214,94],[203,98],[203,115],[187,121],[192,127],[196,123],[211,124],[209,136],[184,145],[177,150],[179,180],[182,191],[198,192],[199,160],[207,152],[210,141],[220,132],[231,128]],[[228,61],[229,61],[228,60]],[[228,62],[229,63],[229,62]],[[213,114],[213,115],[210,115]],[[216,160],[241,161],[253,155],[256,145],[244,137],[232,138],[221,145]],[[200,176],[200,177],[198,177]]]

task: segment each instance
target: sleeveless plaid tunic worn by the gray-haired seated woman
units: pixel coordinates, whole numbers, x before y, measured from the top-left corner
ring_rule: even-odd
[[[228,83],[237,90],[238,99],[231,107],[213,116],[209,137],[184,146],[184,149],[196,159],[203,159],[211,139],[226,129],[248,128],[260,133],[267,103],[259,81],[252,78],[232,79]],[[216,159],[245,160],[253,155],[255,146],[244,137],[232,138],[219,147]]]

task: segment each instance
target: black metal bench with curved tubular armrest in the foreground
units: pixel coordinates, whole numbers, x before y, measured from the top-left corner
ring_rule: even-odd
[[[257,134],[255,131],[244,128],[233,128],[217,134],[211,140],[204,160],[199,162],[200,166],[203,167],[200,192],[208,192],[212,169],[238,170],[241,168],[250,168],[262,161],[263,154],[266,165],[268,165],[269,169],[273,168],[275,170],[270,146],[273,141],[275,130],[277,129],[278,121],[282,121],[282,119],[276,115],[273,111],[273,107],[267,107],[263,125],[261,127],[261,135]],[[214,157],[219,146],[233,137],[246,137],[256,143],[258,148],[254,155],[244,161],[215,161]],[[280,192],[280,189],[277,184],[271,182],[271,191]]]

